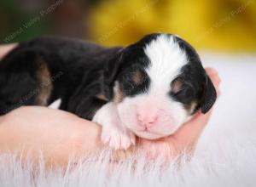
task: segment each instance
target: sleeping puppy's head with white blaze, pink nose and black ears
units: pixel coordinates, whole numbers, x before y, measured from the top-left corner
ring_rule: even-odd
[[[216,99],[195,49],[169,34],[150,34],[120,50],[108,62],[105,82],[123,125],[145,139],[174,133]]]

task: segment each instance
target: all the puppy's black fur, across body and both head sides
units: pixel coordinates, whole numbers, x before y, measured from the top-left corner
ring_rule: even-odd
[[[0,62],[0,115],[20,105],[38,105],[38,95],[46,87],[37,74],[42,65],[49,70],[52,86],[46,105],[61,99],[61,110],[89,120],[113,99],[116,82],[127,97],[147,92],[150,78],[145,68],[149,61],[143,48],[159,35],[148,35],[126,48],[103,48],[91,42],[56,37],[38,37],[20,43]],[[215,89],[195,49],[176,39],[188,54],[189,62],[179,76],[184,82],[183,91],[170,95],[185,106],[196,101],[196,109],[201,107],[206,113],[216,99]],[[131,80],[135,71],[142,74],[139,83]]]

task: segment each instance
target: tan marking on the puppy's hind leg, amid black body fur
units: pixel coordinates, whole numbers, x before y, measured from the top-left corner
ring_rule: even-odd
[[[38,105],[48,105],[48,99],[52,91],[52,82],[49,69],[44,61],[38,69],[38,79],[40,81],[40,91],[37,98]]]

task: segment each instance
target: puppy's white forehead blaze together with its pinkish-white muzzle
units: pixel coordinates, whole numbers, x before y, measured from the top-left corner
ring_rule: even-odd
[[[146,69],[150,79],[148,92],[133,98],[125,98],[118,105],[119,116],[124,125],[138,136],[157,139],[174,133],[187,119],[183,105],[170,95],[171,82],[188,63],[187,56],[172,36],[160,35],[144,48],[149,65]],[[145,121],[144,129],[140,122]],[[152,124],[152,125],[150,125]]]

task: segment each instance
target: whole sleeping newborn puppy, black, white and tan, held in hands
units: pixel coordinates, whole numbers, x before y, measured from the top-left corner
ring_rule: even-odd
[[[199,109],[206,113],[216,91],[195,49],[171,34],[124,48],[39,37],[0,62],[0,114],[55,99],[61,110],[101,124],[103,143],[127,149],[135,135],[159,139]]]

